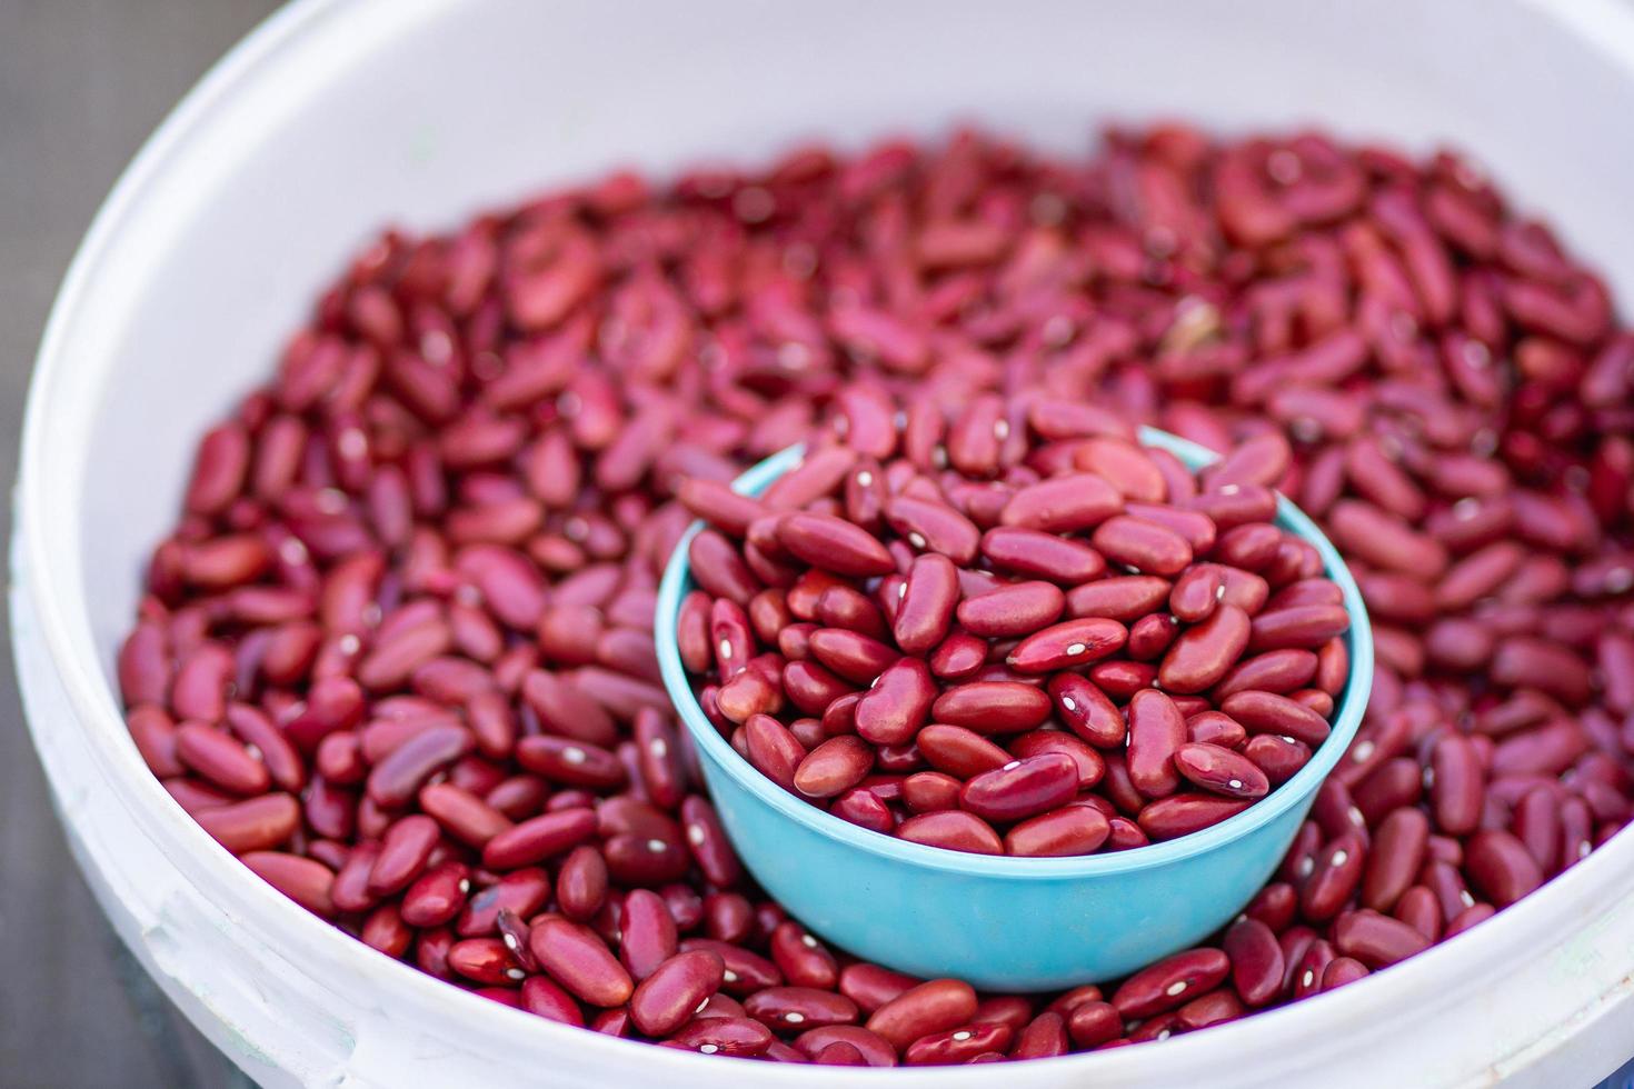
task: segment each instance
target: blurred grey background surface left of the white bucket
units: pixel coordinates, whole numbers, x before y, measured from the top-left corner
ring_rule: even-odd
[[[0,0],[0,488],[80,235],[172,104],[273,0]],[[0,540],[10,537],[0,504]],[[243,1084],[119,945],[67,856],[0,635],[0,1086]]]

